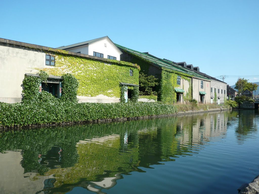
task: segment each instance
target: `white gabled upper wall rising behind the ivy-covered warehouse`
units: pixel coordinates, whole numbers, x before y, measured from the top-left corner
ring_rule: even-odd
[[[119,52],[119,49],[108,38],[90,43],[88,46],[88,55],[93,56],[93,52],[102,53],[103,58],[107,58],[107,55],[110,55],[116,57],[116,60],[120,61],[121,53]]]

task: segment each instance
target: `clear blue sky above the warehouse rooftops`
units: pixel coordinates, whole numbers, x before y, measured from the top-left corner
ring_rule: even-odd
[[[259,81],[258,8],[258,0],[3,0],[0,38],[55,48],[109,36],[214,77],[230,75],[225,82],[234,85],[238,76]]]

